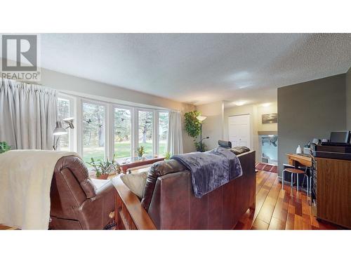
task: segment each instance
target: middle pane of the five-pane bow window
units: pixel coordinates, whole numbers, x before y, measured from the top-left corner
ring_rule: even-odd
[[[114,154],[115,158],[131,156],[131,110],[114,108]]]

